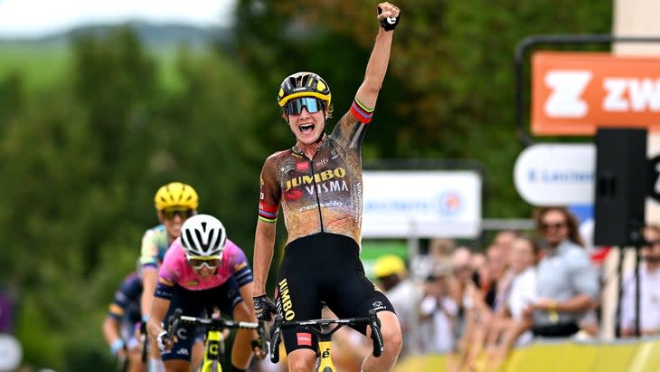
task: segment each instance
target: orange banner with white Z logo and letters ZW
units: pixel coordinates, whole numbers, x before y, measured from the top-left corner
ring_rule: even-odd
[[[660,58],[535,52],[532,133],[592,136],[599,127],[660,130]]]

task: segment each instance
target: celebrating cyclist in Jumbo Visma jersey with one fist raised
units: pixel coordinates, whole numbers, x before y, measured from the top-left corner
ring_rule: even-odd
[[[278,105],[296,144],[268,157],[260,176],[253,260],[257,318],[269,320],[277,311],[285,320],[318,319],[321,302],[340,318],[365,317],[369,310],[376,310],[382,322],[384,351],[380,358],[365,358],[363,371],[391,370],[401,351],[399,320],[387,297],[364,275],[359,258],[362,141],[387,71],[399,16],[395,5],[378,5],[381,28],[363,83],[331,134],[325,134],[326,119],[332,112],[328,84],[313,72],[297,72],[282,81]],[[266,294],[266,280],[280,207],[288,240],[273,303]],[[354,328],[371,337],[370,328]],[[301,327],[283,329],[282,337],[289,370],[313,370],[316,335]]]

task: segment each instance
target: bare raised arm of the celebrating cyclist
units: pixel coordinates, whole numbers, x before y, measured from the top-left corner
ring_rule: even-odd
[[[382,9],[382,14],[378,15],[379,20],[399,16],[399,8],[390,3],[381,3],[378,6]],[[381,91],[382,81],[385,79],[387,65],[390,62],[393,33],[393,31],[385,31],[382,27],[378,29],[372,55],[369,57],[364,73],[364,81],[357,90],[357,94],[355,94],[355,98],[367,109],[373,109],[376,105],[378,92]]]

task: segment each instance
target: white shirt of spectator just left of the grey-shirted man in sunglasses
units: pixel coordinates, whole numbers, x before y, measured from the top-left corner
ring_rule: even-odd
[[[536,301],[536,268],[528,267],[514,276],[511,283],[506,305],[513,320],[521,320],[523,309]],[[515,342],[516,346],[529,343],[533,338],[532,331],[526,330]]]

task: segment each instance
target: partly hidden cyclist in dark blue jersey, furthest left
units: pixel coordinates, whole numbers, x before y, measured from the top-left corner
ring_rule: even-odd
[[[136,336],[141,319],[141,296],[142,278],[138,272],[131,272],[115,292],[115,300],[108,306],[108,316],[103,320],[103,337],[110,352],[119,359],[127,359],[128,372],[146,371],[142,345]]]

